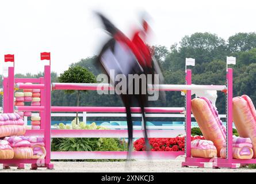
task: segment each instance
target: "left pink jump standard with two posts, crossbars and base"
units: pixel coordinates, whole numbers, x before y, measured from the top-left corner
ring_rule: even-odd
[[[14,106],[14,83],[39,83],[32,85],[17,85],[15,89],[41,89],[41,106]],[[43,93],[42,93],[43,92]],[[47,95],[44,95],[47,94]],[[3,79],[3,112],[14,113],[15,110],[40,112],[41,117],[41,129],[40,132],[44,136],[45,150],[47,152],[43,159],[7,159],[0,160],[3,164],[3,168],[10,168],[10,166],[16,166],[18,168],[24,168],[24,164],[31,164],[32,169],[37,167],[47,167],[49,169],[54,168],[51,163],[51,68],[50,66],[44,67],[44,77],[35,78],[14,78],[14,67],[8,68],[8,77]],[[38,136],[37,130],[26,131],[27,135]]]

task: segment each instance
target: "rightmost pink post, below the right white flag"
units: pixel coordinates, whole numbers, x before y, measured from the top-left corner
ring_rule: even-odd
[[[232,125],[233,125],[233,70],[232,68],[227,69],[227,112],[226,112],[226,124],[227,124],[227,147],[226,147],[226,155],[227,161],[229,163],[232,162],[233,159],[233,151],[232,151]]]

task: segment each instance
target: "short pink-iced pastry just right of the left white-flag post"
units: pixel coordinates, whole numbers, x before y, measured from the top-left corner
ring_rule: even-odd
[[[217,156],[217,149],[210,140],[193,140],[191,155],[200,158],[214,158]]]

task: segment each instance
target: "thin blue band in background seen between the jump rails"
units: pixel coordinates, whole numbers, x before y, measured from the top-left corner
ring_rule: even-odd
[[[59,125],[62,122],[63,124],[71,124],[71,121],[51,121],[51,125]],[[127,125],[126,121],[87,121],[86,124],[91,124],[95,122],[96,125]],[[31,121],[28,121],[28,125],[31,125]],[[142,125],[141,121],[133,121],[133,125],[140,126]],[[184,121],[147,121],[147,126],[181,126],[184,127]],[[226,126],[226,122],[223,122],[223,125]],[[198,127],[197,122],[191,122],[191,127]],[[233,123],[233,127],[235,125]]]

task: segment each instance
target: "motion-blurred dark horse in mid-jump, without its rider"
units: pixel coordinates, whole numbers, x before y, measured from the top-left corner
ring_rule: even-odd
[[[100,16],[105,29],[110,33],[112,38],[104,45],[98,55],[97,63],[100,63],[105,74],[108,75],[110,83],[116,85],[114,78],[110,77],[110,70],[115,71],[115,75],[123,74],[127,79],[127,89],[126,93],[120,94],[120,97],[124,103],[125,111],[127,113],[127,127],[128,127],[128,158],[132,151],[132,140],[133,140],[133,124],[131,116],[131,107],[135,104],[139,105],[142,116],[143,116],[143,126],[144,126],[144,138],[146,142],[145,150],[149,151],[149,143],[146,130],[146,116],[145,107],[148,105],[148,93],[147,93],[147,79],[146,84],[139,80],[139,86],[135,86],[135,81],[128,81],[128,74],[151,74],[152,82],[154,81],[154,68],[149,68],[141,66],[136,58],[137,49],[135,45],[119,30],[117,29],[109,20],[107,20],[102,14],[98,13]],[[121,56],[121,57],[120,57]],[[153,62],[152,62],[153,63]],[[152,64],[154,66],[154,64]],[[132,87],[132,90],[131,90]],[[139,87],[139,93],[135,93],[135,89]],[[143,87],[146,88],[146,93],[143,92]],[[145,90],[145,89],[144,89]],[[132,93],[131,93],[132,91]],[[130,93],[129,93],[130,92]]]

